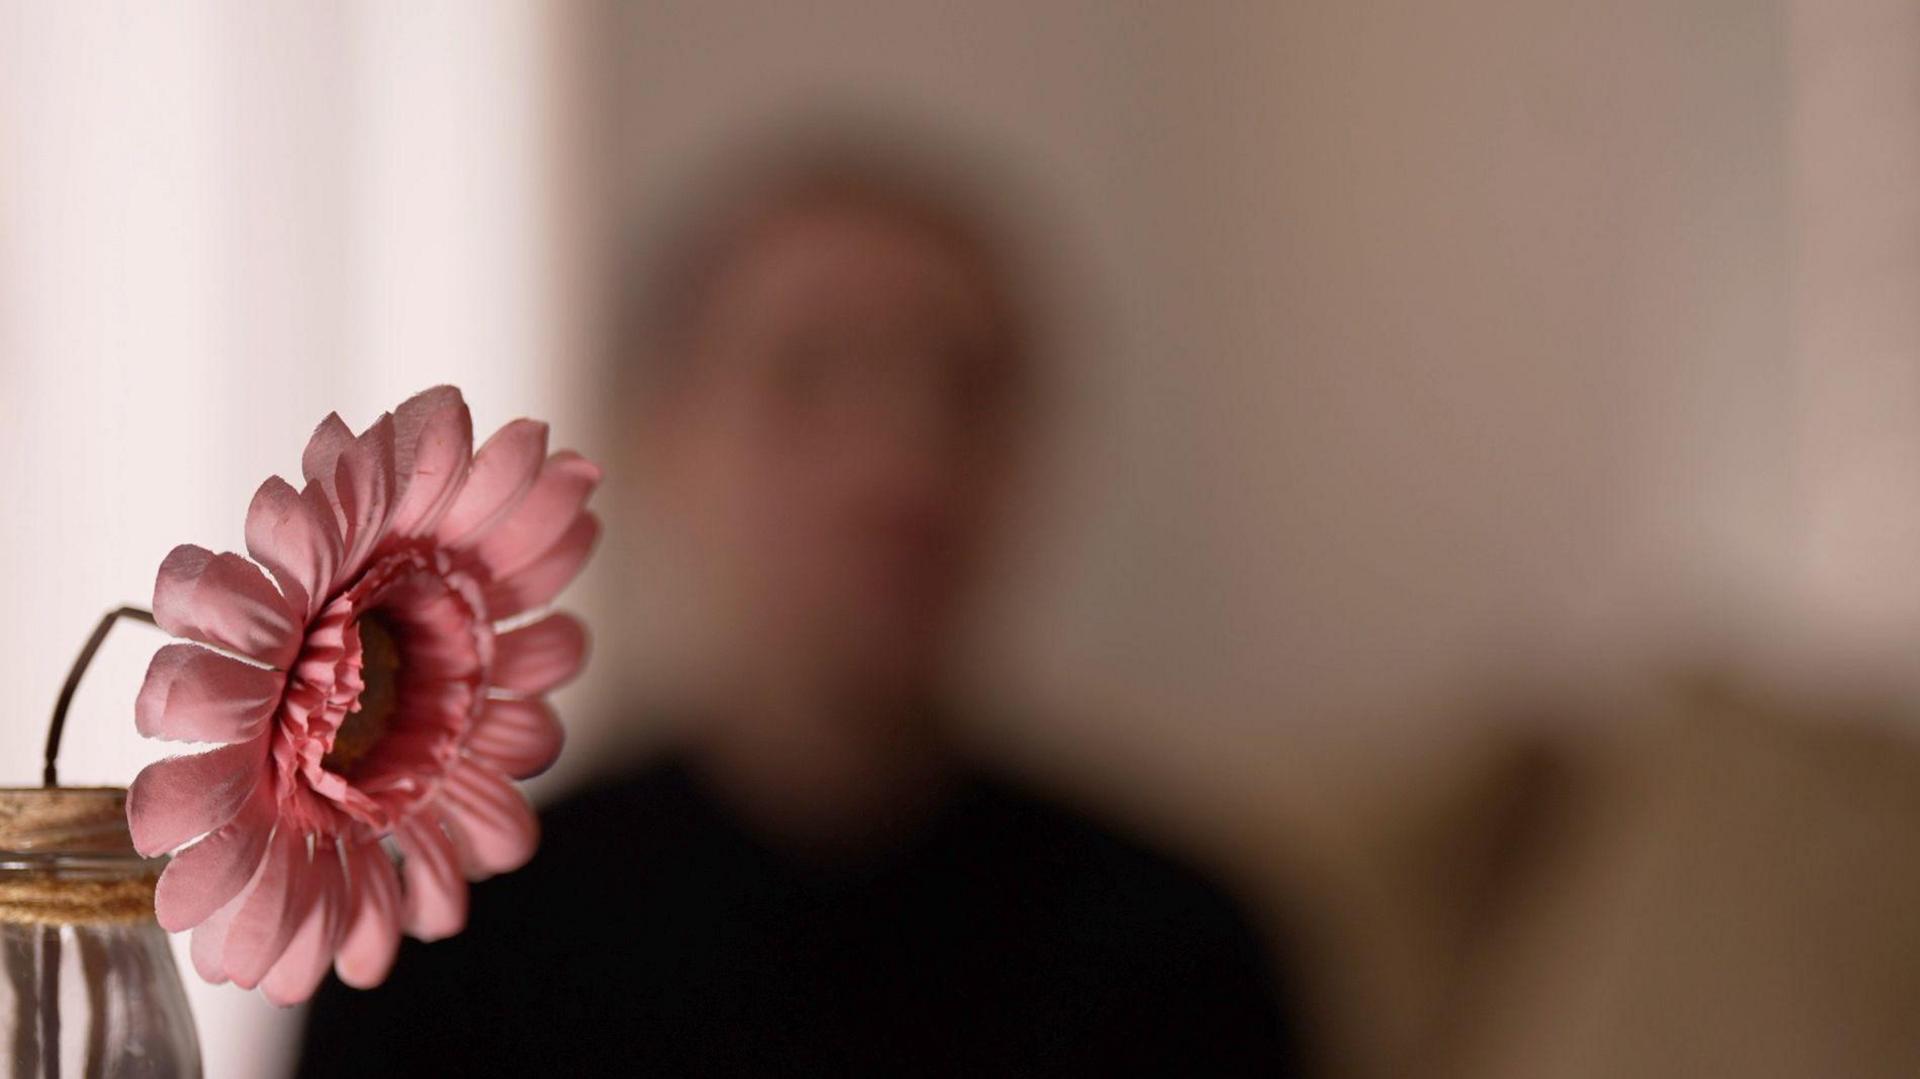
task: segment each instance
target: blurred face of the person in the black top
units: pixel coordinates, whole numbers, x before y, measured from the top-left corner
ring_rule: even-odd
[[[789,209],[718,271],[666,463],[732,639],[925,689],[1010,472],[1023,371],[960,242],[858,205]]]

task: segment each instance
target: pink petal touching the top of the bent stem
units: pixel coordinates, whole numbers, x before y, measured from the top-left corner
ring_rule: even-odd
[[[175,547],[154,582],[154,620],[161,630],[269,666],[294,660],[303,616],[253,563],[192,543]]]

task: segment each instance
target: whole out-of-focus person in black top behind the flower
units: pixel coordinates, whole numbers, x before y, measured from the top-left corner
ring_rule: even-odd
[[[301,1075],[1281,1075],[1204,875],[958,747],[945,683],[1041,376],[954,171],[835,138],[707,188],[612,407],[703,664],[468,931],[328,983]]]

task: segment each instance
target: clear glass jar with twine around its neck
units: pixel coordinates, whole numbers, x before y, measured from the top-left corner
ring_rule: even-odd
[[[161,864],[132,849],[125,789],[0,789],[0,1075],[200,1075]]]

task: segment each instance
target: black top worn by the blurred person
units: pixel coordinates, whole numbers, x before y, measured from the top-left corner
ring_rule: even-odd
[[[328,979],[300,1075],[1281,1075],[1267,950],[1206,879],[1004,781],[822,868],[684,766],[557,804],[463,935]]]

